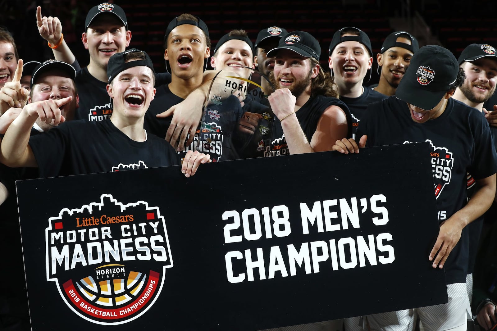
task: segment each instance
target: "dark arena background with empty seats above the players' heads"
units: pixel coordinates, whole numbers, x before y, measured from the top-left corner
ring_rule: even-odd
[[[439,44],[456,57],[471,43],[497,45],[497,5],[494,0],[305,0],[305,1],[109,1],[122,6],[127,14],[132,40],[130,47],[149,53],[157,72],[165,72],[163,39],[167,23],[188,12],[207,23],[213,46],[232,29],[245,29],[252,41],[263,28],[281,26],[289,32],[304,30],[322,45],[321,63],[328,70],[328,47],[333,33],[344,26],[356,26],[371,39],[373,53],[381,48],[393,31],[407,30],[419,45]],[[168,1],[169,2],[169,1]],[[0,0],[0,25],[14,35],[20,57],[25,61],[44,61],[52,52],[39,36],[36,6],[42,14],[57,16],[63,25],[64,38],[85,66],[88,52],[81,34],[89,8],[101,1],[79,0]],[[369,83],[378,82],[376,59]]]

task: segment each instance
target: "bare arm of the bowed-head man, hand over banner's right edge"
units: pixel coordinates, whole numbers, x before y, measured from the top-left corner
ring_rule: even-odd
[[[496,174],[478,179],[477,189],[466,206],[440,224],[435,245],[428,256],[433,267],[442,268],[450,252],[459,242],[464,227],[483,215],[492,205],[496,193]]]

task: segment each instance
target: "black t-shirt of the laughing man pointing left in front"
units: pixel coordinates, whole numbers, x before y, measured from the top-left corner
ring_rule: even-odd
[[[179,165],[173,148],[152,134],[130,139],[109,120],[69,121],[29,139],[40,177]]]

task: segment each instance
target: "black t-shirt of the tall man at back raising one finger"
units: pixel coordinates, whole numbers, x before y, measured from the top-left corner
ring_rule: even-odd
[[[170,74],[156,74],[156,84],[169,83],[170,81]],[[76,73],[75,83],[80,97],[80,106],[76,108],[74,119],[95,122],[110,118],[113,105],[107,93],[107,82],[97,80],[91,76],[87,67],[84,67]]]

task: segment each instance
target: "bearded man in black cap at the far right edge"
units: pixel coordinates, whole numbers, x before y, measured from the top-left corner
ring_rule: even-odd
[[[487,44],[471,44],[466,47],[458,59],[459,66],[464,70],[466,79],[454,92],[453,98],[470,107],[482,111],[483,104],[490,99],[497,84],[497,55],[494,47]],[[492,139],[497,146],[497,128],[491,126]],[[474,193],[475,179],[468,173],[468,198]],[[468,226],[469,232],[469,263],[466,277],[466,288],[470,302],[473,296],[473,271],[479,247],[480,236],[484,223],[484,215]],[[468,310],[468,320],[472,319]],[[478,313],[478,312],[477,312]]]

